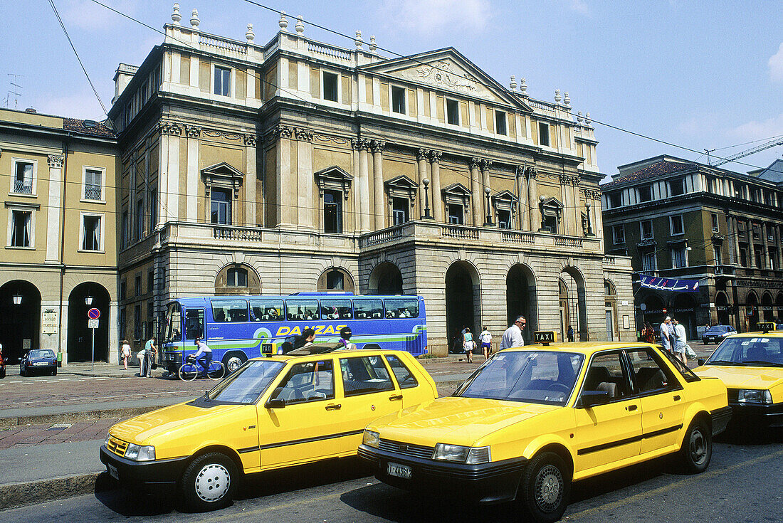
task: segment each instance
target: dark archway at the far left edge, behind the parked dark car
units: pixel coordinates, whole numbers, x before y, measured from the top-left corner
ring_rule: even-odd
[[[6,364],[40,348],[41,293],[30,282],[13,280],[0,287],[0,344]]]

